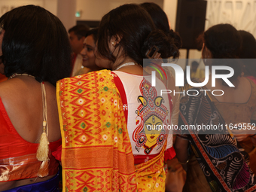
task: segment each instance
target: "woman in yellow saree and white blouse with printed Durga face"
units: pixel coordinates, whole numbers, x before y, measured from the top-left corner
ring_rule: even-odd
[[[154,87],[151,76],[143,76],[143,59],[152,47],[162,58],[178,56],[173,39],[155,28],[145,9],[122,5],[99,25],[96,65],[111,70],[57,84],[66,140],[63,187],[164,191],[163,160],[172,158],[172,132],[159,127],[170,124],[175,100],[160,96],[166,89],[160,80]]]

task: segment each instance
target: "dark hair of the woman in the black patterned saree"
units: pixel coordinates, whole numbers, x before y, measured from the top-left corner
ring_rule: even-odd
[[[236,81],[242,74],[242,62],[236,59],[239,58],[242,38],[236,28],[230,24],[212,26],[203,33],[203,42],[212,53],[212,59],[214,59],[212,65],[232,67],[234,75],[230,78],[230,81]],[[203,53],[205,51],[206,49],[203,50]],[[218,74],[226,73],[225,70],[218,70]]]

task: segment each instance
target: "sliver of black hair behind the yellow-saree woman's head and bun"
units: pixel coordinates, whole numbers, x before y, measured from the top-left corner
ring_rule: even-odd
[[[163,32],[166,33],[166,35],[170,35],[174,40],[175,46],[180,49],[182,44],[181,37],[180,35],[178,35],[178,32],[174,32],[172,29],[169,28],[169,20],[163,9],[160,8],[159,5],[152,2],[142,3],[140,6],[148,11],[148,14],[150,14],[151,19],[154,21],[157,29],[161,29],[163,30]]]

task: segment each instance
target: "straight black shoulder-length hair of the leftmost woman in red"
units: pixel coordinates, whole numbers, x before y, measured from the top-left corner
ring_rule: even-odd
[[[5,75],[26,73],[39,82],[56,81],[69,77],[71,47],[61,21],[35,5],[26,5],[0,17],[5,30],[2,41]]]

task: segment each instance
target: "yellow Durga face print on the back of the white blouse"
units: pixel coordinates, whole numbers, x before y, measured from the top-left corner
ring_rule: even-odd
[[[133,141],[136,150],[144,149],[145,154],[158,151],[163,147],[169,133],[163,125],[168,125],[169,110],[163,103],[165,99],[157,95],[157,89],[145,78],[139,86],[142,96],[138,96],[139,107],[136,110],[136,130],[133,132]],[[159,151],[158,151],[159,152]]]

